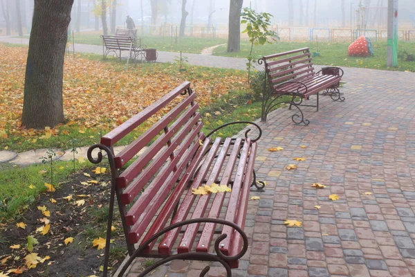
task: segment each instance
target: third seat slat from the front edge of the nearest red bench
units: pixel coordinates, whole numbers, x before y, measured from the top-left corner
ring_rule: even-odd
[[[219,184],[220,186],[229,185],[235,163],[237,162],[241,143],[242,143],[241,138],[238,138],[234,141],[234,145],[233,145],[232,151],[230,152],[228,163],[226,163],[226,168],[223,171],[221,182]],[[208,217],[213,217],[213,218],[219,217],[224,199],[225,199],[225,193],[216,193],[213,203],[212,203],[212,208],[210,208]],[[215,228],[216,228],[216,224],[214,223],[205,224],[203,231],[202,231],[201,238],[199,239],[199,243],[197,244],[196,251],[198,252],[209,251]]]

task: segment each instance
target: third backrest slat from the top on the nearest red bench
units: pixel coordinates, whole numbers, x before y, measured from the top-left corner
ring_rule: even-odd
[[[156,139],[154,143],[151,143],[149,148],[147,148],[145,152],[142,153],[140,157],[138,157],[138,159],[136,159],[136,161],[134,161],[131,164],[131,166],[129,166],[129,168],[122,172],[120,177],[117,178],[117,184],[120,188],[125,188],[129,183],[131,183],[131,181],[133,181],[133,179],[138,175],[138,173],[141,172],[141,170],[146,166],[146,164],[149,163],[151,159],[154,159],[154,157],[158,153],[158,149],[162,148],[163,145],[168,143],[169,140],[173,138],[174,134],[176,134],[181,127],[187,126],[187,128],[189,128],[190,126],[188,125],[188,120],[190,120],[192,116],[195,117],[192,118],[192,122],[195,122],[195,120],[200,118],[199,113],[194,114],[195,110],[195,107],[191,107],[187,110],[187,112],[182,114],[178,118],[178,120],[176,120],[176,122],[174,122],[173,125],[169,127],[169,131],[167,133],[159,136],[158,139]],[[169,154],[171,154],[173,148],[169,149]]]

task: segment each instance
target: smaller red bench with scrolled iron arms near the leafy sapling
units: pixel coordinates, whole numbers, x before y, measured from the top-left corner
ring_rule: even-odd
[[[294,106],[299,111],[299,114],[293,115],[293,122],[308,125],[310,121],[304,120],[304,114],[299,107],[317,107],[318,111],[320,91],[325,91],[324,94],[331,96],[335,101],[345,100],[338,89],[343,75],[342,69],[331,66],[315,72],[308,48],[268,55],[259,59],[258,63],[264,63],[266,74],[261,121],[266,121],[268,113],[277,105],[286,103],[290,105],[290,109]],[[266,89],[267,82],[270,89]],[[314,94],[317,94],[316,105],[302,103]],[[289,96],[291,100],[286,100],[284,96]]]

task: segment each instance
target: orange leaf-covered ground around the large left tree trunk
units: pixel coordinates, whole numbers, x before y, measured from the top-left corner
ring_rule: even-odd
[[[107,130],[185,80],[192,82],[201,107],[228,91],[246,87],[246,76],[239,71],[187,66],[187,72],[179,73],[177,64],[140,64],[127,68],[124,62],[66,57],[63,89],[66,123],[36,131],[25,129],[20,121],[27,50],[0,44],[0,142],[3,147],[13,148],[12,143],[35,144],[37,139],[62,133],[68,136],[66,127],[71,125],[77,125],[80,132],[91,127]]]

